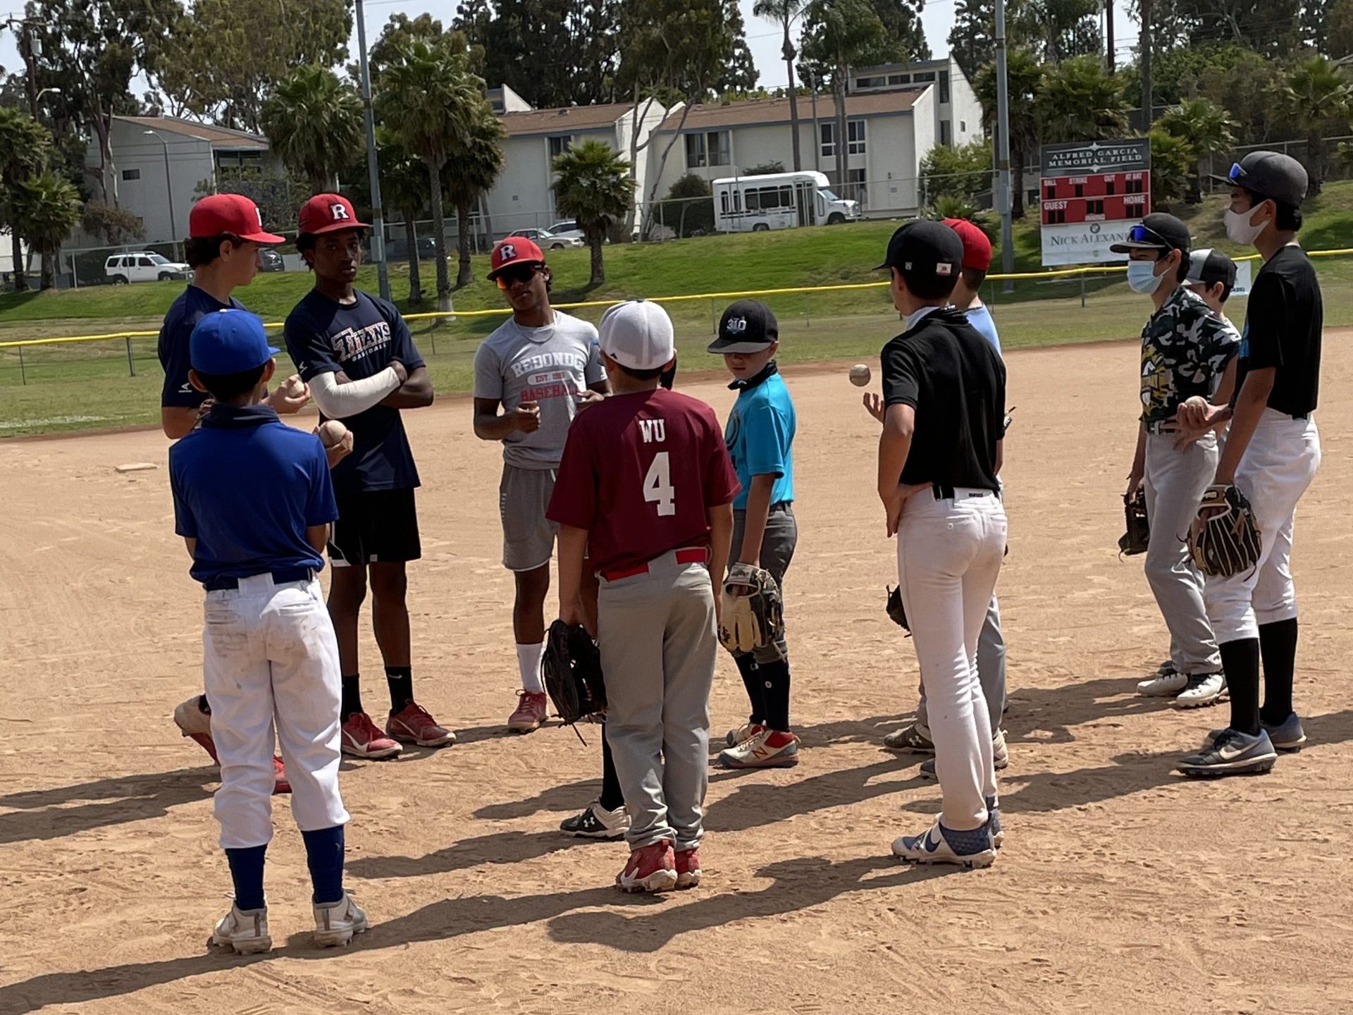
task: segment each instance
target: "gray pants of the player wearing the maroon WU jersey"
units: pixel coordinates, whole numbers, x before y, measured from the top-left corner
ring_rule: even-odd
[[[648,571],[601,579],[597,644],[606,740],[629,809],[630,849],[694,849],[709,782],[709,690],[718,641],[709,568],[676,552]]]

